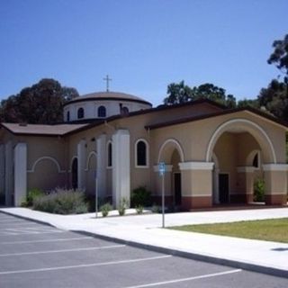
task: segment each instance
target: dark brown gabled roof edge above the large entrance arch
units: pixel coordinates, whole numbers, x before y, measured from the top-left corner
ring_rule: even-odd
[[[252,113],[256,114],[257,116],[265,118],[266,120],[273,121],[277,124],[280,124],[281,126],[284,126],[286,128],[286,130],[288,130],[288,123],[287,122],[282,121],[278,118],[275,118],[275,116],[268,114],[267,112],[259,111],[255,108],[250,107],[250,106],[241,107],[241,108],[234,108],[234,109],[227,109],[227,110],[223,110],[220,112],[211,112],[208,114],[197,115],[197,116],[188,116],[188,117],[184,117],[181,119],[175,119],[172,121],[163,121],[163,122],[160,122],[157,124],[148,125],[145,128],[148,130],[155,130],[155,129],[163,128],[163,127],[167,127],[167,126],[173,126],[173,125],[182,124],[182,123],[191,122],[191,121],[200,121],[200,120],[204,120],[204,119],[208,119],[208,118],[212,118],[212,117],[218,117],[218,116],[222,116],[222,115],[227,115],[227,114],[231,114],[231,113],[235,113],[235,112],[243,112],[243,111],[252,112]]]

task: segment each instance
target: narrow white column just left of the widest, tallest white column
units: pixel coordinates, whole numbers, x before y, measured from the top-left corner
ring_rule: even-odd
[[[97,186],[98,196],[104,197],[106,193],[106,166],[107,166],[107,153],[106,153],[106,135],[102,134],[98,137],[96,142],[97,151]]]

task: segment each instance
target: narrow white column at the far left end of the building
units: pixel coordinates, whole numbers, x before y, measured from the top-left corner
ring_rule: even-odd
[[[5,144],[5,205],[11,206],[13,194],[13,146],[12,141]]]

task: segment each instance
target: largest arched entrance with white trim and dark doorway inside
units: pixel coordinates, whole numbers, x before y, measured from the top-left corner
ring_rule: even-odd
[[[214,162],[213,203],[253,202],[254,182],[264,178],[262,163],[275,163],[265,130],[244,119],[223,123],[212,135],[206,161]]]

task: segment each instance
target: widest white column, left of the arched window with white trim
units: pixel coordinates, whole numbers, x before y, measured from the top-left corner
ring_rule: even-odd
[[[121,198],[130,200],[130,133],[117,130],[112,135],[112,201],[119,206]]]

